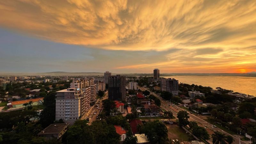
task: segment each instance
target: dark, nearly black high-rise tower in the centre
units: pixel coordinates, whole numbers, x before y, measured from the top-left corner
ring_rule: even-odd
[[[108,78],[108,99],[125,100],[125,76],[109,76]]]

